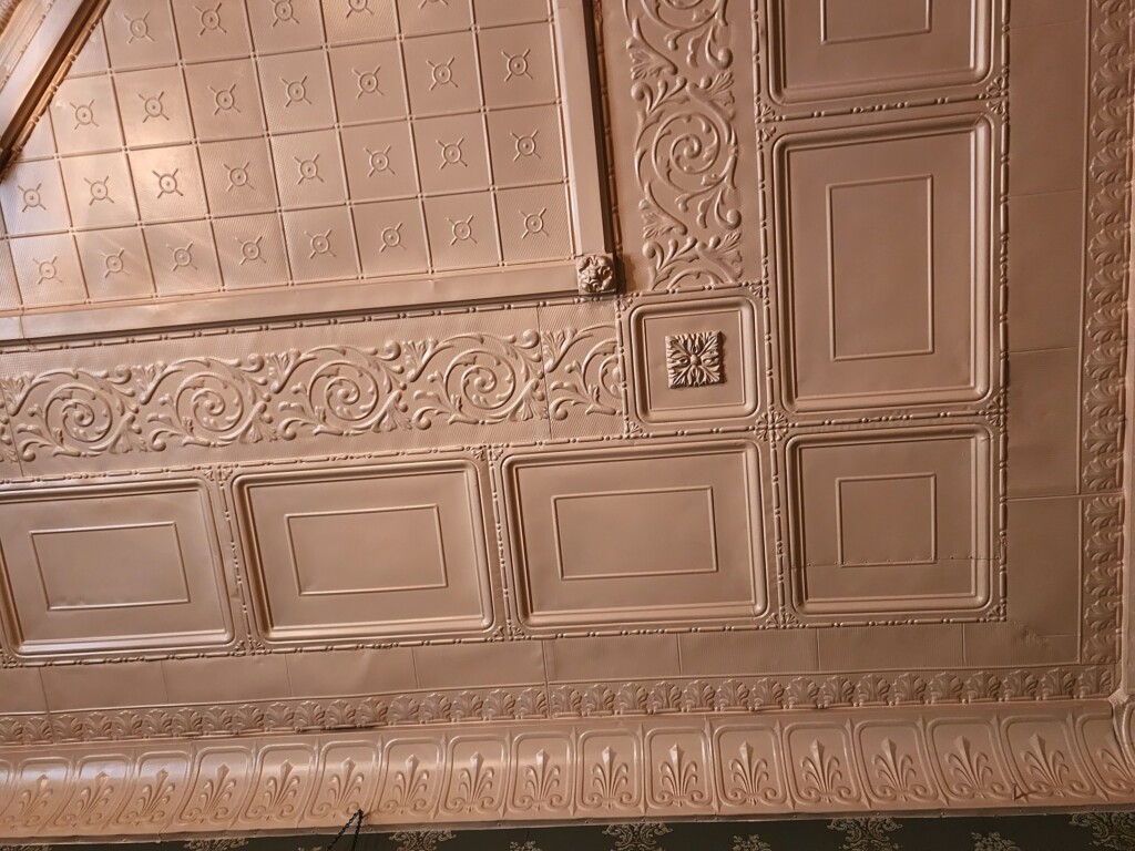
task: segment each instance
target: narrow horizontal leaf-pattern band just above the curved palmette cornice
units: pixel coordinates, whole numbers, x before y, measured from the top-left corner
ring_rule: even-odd
[[[859,707],[1027,706],[1099,699],[1110,667],[674,679],[414,693],[93,709],[0,717],[0,745],[210,739],[278,732],[415,728],[532,719],[839,710]]]

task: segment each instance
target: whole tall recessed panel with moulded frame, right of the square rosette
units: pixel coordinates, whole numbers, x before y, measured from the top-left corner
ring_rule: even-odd
[[[774,184],[790,406],[984,395],[991,145],[987,119],[967,115],[781,137]]]

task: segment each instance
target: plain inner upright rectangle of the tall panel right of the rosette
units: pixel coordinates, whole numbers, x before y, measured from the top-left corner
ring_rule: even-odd
[[[933,186],[915,176],[829,187],[833,361],[933,354]]]

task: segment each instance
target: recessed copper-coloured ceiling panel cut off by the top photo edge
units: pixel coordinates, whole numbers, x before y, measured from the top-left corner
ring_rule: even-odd
[[[770,89],[784,103],[972,86],[990,0],[770,0]]]

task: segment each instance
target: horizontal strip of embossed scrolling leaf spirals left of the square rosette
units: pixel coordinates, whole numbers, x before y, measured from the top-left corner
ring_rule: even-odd
[[[616,349],[614,328],[599,325],[3,376],[0,457],[563,420],[577,405],[616,416]]]

